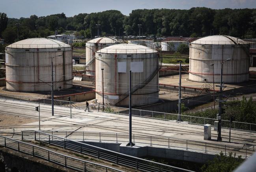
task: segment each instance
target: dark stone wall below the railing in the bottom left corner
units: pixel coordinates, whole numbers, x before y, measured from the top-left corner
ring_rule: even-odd
[[[0,148],[0,172],[75,172],[44,159]]]

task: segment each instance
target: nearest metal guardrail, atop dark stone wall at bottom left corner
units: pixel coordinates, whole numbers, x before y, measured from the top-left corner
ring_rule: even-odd
[[[7,137],[0,136],[0,145],[80,172],[123,172],[112,167],[56,153],[52,150],[41,148],[40,146],[9,139]]]

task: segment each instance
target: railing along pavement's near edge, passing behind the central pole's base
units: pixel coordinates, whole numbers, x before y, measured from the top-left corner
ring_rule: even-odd
[[[129,133],[103,133],[103,132],[87,132],[87,131],[43,131],[50,135],[63,137],[71,140],[79,141],[113,141],[113,142],[129,142]],[[173,137],[160,137],[152,135],[133,134],[134,143],[148,144],[150,146],[166,146],[168,148],[182,148],[205,153],[219,154],[223,152],[227,155],[229,152],[241,155],[243,158],[250,157],[256,149],[242,146],[233,146],[227,144],[218,144],[202,141],[192,141],[187,139],[177,139]]]

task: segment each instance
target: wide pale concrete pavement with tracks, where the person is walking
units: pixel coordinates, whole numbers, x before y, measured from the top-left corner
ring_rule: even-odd
[[[0,122],[0,131],[20,131],[38,129],[38,112],[35,107],[38,104],[28,102],[13,102],[0,99],[0,114],[26,117],[37,120],[27,124],[9,124],[4,126]],[[50,105],[41,107],[41,130],[62,130],[62,131],[92,131],[92,132],[118,132],[129,133],[129,117],[112,113],[98,111],[84,112],[82,109],[70,109],[65,107],[54,107],[54,116],[51,114]],[[141,135],[155,135],[175,137],[179,139],[190,139],[204,141],[204,127],[175,121],[163,121],[150,118],[133,117],[133,133]],[[228,142],[228,129],[222,129],[222,141],[217,142],[217,131],[213,131],[212,140],[207,142],[231,144],[236,146],[253,147],[256,145],[256,133],[232,130],[231,143]]]

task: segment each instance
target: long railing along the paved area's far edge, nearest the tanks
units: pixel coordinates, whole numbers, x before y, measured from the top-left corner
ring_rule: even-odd
[[[33,102],[33,103],[40,102],[40,104],[49,104],[49,105],[52,104],[51,99],[37,98],[37,97],[30,97],[30,96],[20,96],[20,95],[13,95],[13,94],[0,93],[0,99],[20,101],[20,102]],[[60,107],[70,107],[69,102],[63,101],[63,100],[54,100],[54,105],[57,105]],[[79,103],[79,102],[71,102],[71,107],[82,109],[86,107],[86,104]],[[92,109],[96,109],[97,111],[103,111],[103,105],[91,104],[90,107]],[[129,108],[104,105],[104,112],[117,113],[121,115],[129,115]],[[160,120],[174,120],[174,121],[176,121],[179,116],[178,114],[146,111],[146,110],[140,110],[140,109],[132,109],[132,115],[137,117],[153,118],[153,119],[160,119]],[[213,119],[213,118],[194,117],[194,116],[187,116],[187,115],[181,115],[181,120],[183,122],[187,122],[188,124],[196,124],[196,125],[211,124],[212,126],[214,125],[214,121],[217,121],[217,119]],[[221,127],[229,128],[230,121],[221,120]],[[231,123],[231,129],[256,132],[256,124],[233,121]]]

